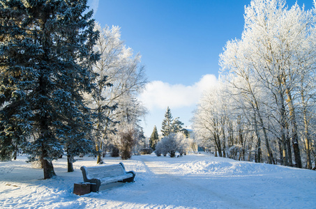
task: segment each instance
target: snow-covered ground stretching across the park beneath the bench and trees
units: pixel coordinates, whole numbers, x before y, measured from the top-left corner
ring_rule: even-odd
[[[0,162],[0,208],[316,208],[316,171],[306,169],[206,153],[141,155],[123,161],[126,170],[136,172],[135,183],[77,196],[73,184],[82,182],[81,166],[96,166],[93,157],[75,162],[73,173],[67,173],[65,157],[55,161],[57,177],[49,180],[25,160]],[[121,159],[105,157],[105,162]]]

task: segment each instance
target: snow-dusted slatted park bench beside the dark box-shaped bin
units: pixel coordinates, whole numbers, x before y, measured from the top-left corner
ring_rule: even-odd
[[[98,192],[103,183],[134,182],[135,172],[126,172],[123,163],[99,167],[81,167],[84,182],[91,183],[91,192]],[[93,186],[95,184],[95,186]]]

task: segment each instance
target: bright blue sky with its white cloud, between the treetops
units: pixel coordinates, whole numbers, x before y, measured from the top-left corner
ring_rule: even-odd
[[[296,1],[287,1],[292,6]],[[140,100],[149,109],[142,126],[158,131],[167,106],[184,126],[202,91],[216,85],[227,40],[241,38],[250,0],[89,0],[101,26],[120,26],[127,47],[142,55],[149,80]],[[312,8],[313,0],[298,0]],[[156,95],[156,96],[155,96]]]

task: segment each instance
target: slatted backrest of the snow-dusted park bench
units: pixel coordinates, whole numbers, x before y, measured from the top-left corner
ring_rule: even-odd
[[[121,164],[111,164],[100,167],[86,167],[87,178],[108,178],[124,175],[125,171]]]

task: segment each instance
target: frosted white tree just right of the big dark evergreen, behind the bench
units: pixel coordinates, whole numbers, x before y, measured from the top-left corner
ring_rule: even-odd
[[[93,123],[93,137],[98,150],[97,162],[102,163],[104,144],[114,149],[118,146],[114,134],[123,127],[119,125],[122,118],[120,114],[124,112],[122,110],[134,112],[133,116],[137,112],[138,118],[143,116],[140,109],[135,109],[135,112],[132,108],[141,106],[135,98],[144,88],[146,77],[144,67],[140,65],[140,54],[134,56],[133,50],[123,44],[118,26],[101,28],[97,24],[95,30],[100,31],[100,37],[93,49],[100,54],[100,60],[93,65],[93,72],[97,75],[97,92],[86,95],[86,101],[97,116]],[[128,100],[129,103],[126,102]]]

